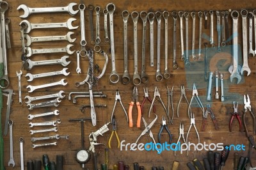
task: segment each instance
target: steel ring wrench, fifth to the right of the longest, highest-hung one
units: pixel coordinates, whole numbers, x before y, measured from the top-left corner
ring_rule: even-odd
[[[163,80],[163,75],[160,72],[161,16],[162,16],[161,12],[156,12],[156,20],[157,20],[156,81]]]

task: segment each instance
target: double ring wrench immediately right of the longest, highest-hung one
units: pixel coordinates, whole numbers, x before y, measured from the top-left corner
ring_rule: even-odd
[[[128,41],[127,41],[127,22],[129,19],[129,12],[124,10],[122,12],[122,18],[124,21],[124,73],[122,76],[122,83],[128,84],[130,82],[130,75],[128,72]]]

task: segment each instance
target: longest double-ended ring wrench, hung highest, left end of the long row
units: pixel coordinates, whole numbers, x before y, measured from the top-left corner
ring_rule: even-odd
[[[114,44],[114,22],[113,22],[113,14],[115,12],[115,4],[109,3],[106,6],[106,9],[109,13],[109,29],[110,29],[110,48],[111,48],[111,61],[112,61],[112,72],[109,76],[110,82],[116,83],[119,81],[119,75],[116,72],[116,64],[115,64],[115,44]]]

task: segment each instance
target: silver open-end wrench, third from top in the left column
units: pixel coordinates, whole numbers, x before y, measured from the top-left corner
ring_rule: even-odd
[[[70,43],[75,42],[76,38],[71,38],[71,35],[73,35],[73,32],[68,32],[67,35],[60,35],[60,36],[29,36],[24,35],[24,38],[27,40],[26,46],[31,45],[33,42],[52,42],[52,41],[63,41],[66,40]]]

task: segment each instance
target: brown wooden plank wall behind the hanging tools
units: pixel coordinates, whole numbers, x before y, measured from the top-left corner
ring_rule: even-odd
[[[70,1],[71,2],[71,1]],[[184,0],[184,1],[111,1],[116,6],[116,11],[114,15],[114,27],[115,27],[115,57],[116,57],[116,70],[119,73],[120,77],[122,76],[123,72],[123,20],[122,20],[122,11],[128,10],[130,13],[134,10],[140,12],[142,10],[146,10],[147,12],[156,12],[167,10],[168,12],[172,11],[204,11],[204,10],[228,10],[228,9],[236,9],[240,10],[241,8],[252,9],[255,7],[255,1],[248,0],[248,1],[195,1],[195,0]],[[74,86],[75,82],[83,81],[86,77],[86,70],[88,67],[87,59],[81,59],[81,69],[82,73],[76,73],[76,53],[70,55],[69,60],[71,61],[70,65],[68,65],[68,71],[70,75],[67,77],[64,76],[56,76],[56,77],[49,77],[49,78],[42,78],[36,79],[33,82],[27,82],[24,75],[26,75],[27,71],[22,70],[22,97],[24,98],[26,95],[29,96],[38,96],[38,95],[47,95],[51,93],[56,93],[60,90],[65,91],[66,97],[60,103],[60,106],[57,108],[40,108],[40,109],[33,109],[33,111],[28,111],[26,104],[23,103],[22,106],[19,105],[18,100],[18,82],[16,71],[19,72],[21,67],[20,55],[21,55],[21,43],[20,43],[20,27],[19,23],[22,19],[20,19],[19,15],[22,15],[22,11],[17,11],[17,7],[20,4],[26,4],[29,7],[46,7],[46,6],[66,6],[69,2],[68,1],[8,1],[9,9],[6,12],[6,17],[11,19],[10,24],[10,33],[11,33],[11,41],[12,41],[12,49],[8,49],[8,71],[10,77],[10,86],[8,88],[13,89],[16,95],[13,97],[13,104],[12,104],[12,111],[10,119],[13,120],[13,150],[14,150],[14,159],[15,159],[15,167],[14,169],[20,169],[20,151],[19,151],[19,137],[24,137],[24,161],[27,162],[28,160],[35,159],[35,158],[42,158],[42,155],[47,153],[51,160],[55,160],[56,155],[63,154],[65,158],[65,169],[81,169],[80,165],[76,162],[74,155],[77,149],[81,147],[81,131],[80,131],[80,123],[70,123],[68,119],[70,118],[83,118],[89,117],[90,112],[89,109],[86,109],[84,113],[79,110],[79,107],[84,104],[90,104],[90,100],[88,98],[79,98],[76,104],[73,104],[72,101],[69,101],[67,98],[68,93],[71,91],[88,91],[88,86],[80,86],[76,88]],[[85,3],[86,6],[88,4],[93,4],[94,6],[100,6],[103,10],[106,8],[106,4],[110,3],[110,1],[75,1],[75,3]],[[76,9],[78,6],[75,7]],[[101,11],[102,11],[101,10]],[[45,13],[45,14],[33,14],[28,17],[29,22],[31,23],[44,23],[44,22],[66,22],[67,19],[70,18],[70,15],[67,13]],[[73,26],[79,26],[78,29],[72,30],[74,31],[74,35],[72,38],[77,38],[76,42],[74,42],[74,47],[72,50],[80,50],[80,17],[79,14],[74,16],[77,20],[72,23]],[[89,17],[88,11],[85,12],[85,29],[86,29],[86,41],[88,45],[86,46],[87,49],[93,48],[90,45],[90,27],[89,27]],[[95,13],[93,13],[93,20],[95,22]],[[198,85],[198,93],[204,106],[208,103],[205,101],[205,96],[207,93],[207,82],[204,81],[204,65],[199,65],[196,67],[196,62],[192,63],[191,65],[191,72],[189,70],[185,70],[184,63],[180,60],[180,31],[179,31],[179,19],[177,19],[177,61],[179,63],[179,69],[173,70],[172,68],[172,61],[173,61],[173,19],[170,16],[168,23],[168,67],[170,69],[170,73],[172,74],[170,79],[163,80],[161,82],[155,81],[155,72],[156,72],[156,64],[154,67],[150,67],[149,65],[149,31],[147,29],[147,41],[146,41],[146,71],[149,75],[149,81],[147,84],[141,84],[138,86],[139,89],[139,100],[142,102],[143,100],[143,86],[147,86],[151,98],[154,95],[154,86],[156,85],[161,93],[161,97],[163,98],[163,102],[167,105],[167,95],[166,95],[166,85],[169,88],[172,86],[173,88],[173,105],[174,105],[174,119],[173,125],[168,125],[172,134],[173,134],[173,143],[176,143],[177,138],[179,137],[179,122],[184,122],[184,130],[185,130],[185,137],[186,133],[189,128],[189,118],[187,116],[187,109],[188,106],[185,100],[182,100],[182,104],[180,104],[180,117],[177,118],[177,104],[180,98],[180,85],[185,84],[186,87],[186,95],[188,100],[191,98],[192,93],[192,83],[196,82]],[[216,15],[214,14],[214,42],[218,42],[218,36],[216,32]],[[203,22],[204,24],[204,22]],[[209,22],[208,22],[209,24]],[[184,23],[185,26],[185,23]],[[231,26],[232,26],[232,19],[229,18],[229,27],[231,33]],[[147,27],[149,24],[147,22]],[[156,37],[157,37],[157,27],[156,27],[156,20],[154,22],[154,38],[155,38],[155,58],[154,61],[156,63]],[[68,32],[68,29],[42,29],[42,30],[33,30],[29,33],[30,36],[51,36],[51,35],[65,35]],[[191,38],[192,38],[192,20],[189,17],[189,49],[191,49]],[[204,29],[203,26],[203,33],[209,35],[209,26],[208,29]],[[129,59],[129,73],[132,77],[133,75],[133,24],[131,17],[129,18],[128,22],[128,59]],[[104,42],[104,25],[103,25],[103,14],[100,13],[100,38],[101,43],[100,46],[106,52],[109,51],[109,43]],[[138,22],[138,54],[139,54],[139,70],[141,69],[141,43],[142,43],[142,22],[139,19]],[[241,44],[241,17],[239,18],[239,43]],[[202,42],[207,42],[207,40],[202,40]],[[196,15],[196,48],[198,48],[198,17]],[[202,43],[202,44],[203,44]],[[31,48],[33,49],[40,49],[40,48],[49,48],[49,47],[64,47],[67,45],[67,42],[47,42],[47,43],[33,43]],[[254,43],[253,43],[254,47]],[[202,51],[204,52],[204,46],[202,45]],[[109,54],[109,52],[108,52]],[[58,59],[61,58],[64,54],[38,54],[31,56],[33,61],[36,60],[44,60],[44,59]],[[109,54],[109,58],[110,58]],[[230,56],[228,57],[227,54],[218,53],[215,54],[216,58],[225,58],[227,59],[228,66],[229,63],[232,61]],[[102,57],[95,53],[95,63],[99,64],[100,68],[104,65],[104,61]],[[224,73],[225,77],[225,102],[220,102],[219,100],[215,100],[212,97],[212,110],[216,114],[216,118],[219,123],[220,130],[214,130],[213,123],[211,118],[208,118],[208,125],[207,130],[202,132],[200,127],[202,125],[202,114],[200,109],[193,108],[196,116],[196,127],[199,130],[200,134],[200,141],[205,143],[224,143],[224,144],[245,144],[246,151],[239,151],[239,154],[246,156],[248,151],[248,141],[245,137],[244,130],[243,132],[239,132],[239,126],[237,121],[234,121],[233,131],[229,132],[228,130],[228,121],[230,119],[229,112],[232,112],[232,100],[239,102],[239,111],[241,112],[243,109],[243,95],[248,93],[250,95],[250,99],[252,102],[252,108],[256,107],[255,102],[255,58],[249,57],[249,65],[252,69],[252,73],[249,77],[244,77],[243,82],[241,84],[230,84],[229,76],[230,74],[225,70],[227,67],[225,65],[220,68],[220,71]],[[193,68],[193,69],[192,69]],[[225,68],[225,69],[224,69]],[[33,68],[33,70],[28,71],[30,73],[42,73],[42,72],[52,72],[56,70],[61,70],[62,66],[41,66],[40,68]],[[161,25],[161,71],[163,73],[164,70],[164,19],[162,18],[162,25]],[[211,71],[215,71],[216,67],[211,64],[210,66]],[[85,135],[85,145],[86,148],[89,147],[88,135],[90,132],[96,131],[102,125],[110,121],[111,112],[113,109],[113,104],[115,102],[115,90],[119,89],[120,95],[122,97],[122,102],[125,105],[125,108],[128,111],[129,102],[132,98],[132,88],[133,84],[130,82],[127,85],[122,84],[122,82],[118,82],[117,84],[111,84],[109,81],[109,75],[111,73],[111,60],[109,60],[106,74],[102,79],[99,80],[99,84],[97,87],[93,88],[93,91],[103,91],[106,94],[107,98],[95,98],[95,104],[106,104],[108,105],[107,108],[104,109],[96,109],[97,111],[97,126],[93,127],[92,123],[86,122],[84,123],[84,135]],[[189,74],[188,74],[189,73]],[[195,77],[195,79],[193,78]],[[39,85],[45,84],[50,82],[60,81],[62,78],[67,78],[67,86],[58,86],[54,88],[47,88],[42,90],[37,90],[33,93],[28,93],[26,86],[28,84],[31,85]],[[212,90],[214,94],[214,90]],[[234,93],[237,95],[234,96]],[[24,101],[23,101],[24,102]],[[3,108],[3,116],[2,116],[2,126],[4,125],[4,118],[6,112],[6,97],[4,97],[4,108]],[[146,121],[149,123],[153,120],[154,116],[148,118],[147,112],[150,105],[148,103],[145,104],[145,112],[144,117]],[[156,103],[157,107],[157,115],[159,116],[158,120],[156,121],[154,127],[152,127],[152,132],[154,134],[154,138],[157,139],[157,134],[161,124],[161,117],[165,115],[163,107],[159,102]],[[49,146],[45,148],[31,148],[31,137],[39,137],[42,134],[30,135],[29,134],[29,120],[27,118],[28,114],[38,114],[41,112],[48,112],[52,111],[53,109],[58,109],[60,111],[60,115],[56,116],[61,119],[61,124],[58,125],[58,134],[68,134],[70,136],[69,140],[59,140],[57,146]],[[143,123],[141,121],[141,128],[129,128],[126,122],[126,118],[124,116],[124,112],[122,108],[118,104],[116,106],[116,120],[118,123],[117,132],[120,137],[120,140],[125,140],[125,143],[134,143],[137,137],[141,134],[141,130],[144,129]],[[136,108],[133,111],[133,120],[135,121],[137,116]],[[40,122],[40,121],[47,121],[47,120],[54,120],[55,118],[47,117],[47,118],[37,118],[33,120],[33,122]],[[252,119],[248,115],[247,121],[252,125]],[[111,125],[109,125],[111,130]],[[35,128],[36,129],[36,128]],[[252,132],[252,128],[250,127],[250,132]],[[53,135],[55,133],[45,133],[45,135]],[[99,137],[100,143],[107,144],[108,139],[110,136],[110,132],[104,134],[103,137]],[[195,130],[191,131],[189,135],[190,141],[197,143],[196,133]],[[168,136],[166,132],[162,135],[162,140],[168,141]],[[150,142],[150,137],[142,137],[140,139],[141,143]],[[6,169],[13,169],[12,167],[8,167],[8,160],[10,158],[9,153],[9,136],[4,136],[4,165]],[[161,155],[157,155],[156,151],[120,151],[116,148],[116,141],[113,139],[111,150],[109,151],[109,168],[113,167],[113,164],[116,164],[118,161],[123,160],[125,164],[128,164],[132,169],[133,162],[139,162],[140,166],[145,166],[146,169],[150,169],[152,166],[164,166],[166,169],[170,169],[172,166],[173,160],[177,160],[180,162],[180,169],[186,169],[186,163],[192,161],[193,158],[198,158],[202,160],[204,157],[207,156],[207,151],[191,151],[189,152],[188,157],[186,154],[177,153],[177,156],[174,156],[173,151],[163,151]],[[97,153],[99,154],[99,166],[100,163],[104,163],[104,148],[105,146],[97,146]],[[227,160],[226,167],[224,169],[232,169],[233,168],[233,157],[234,151],[230,151],[230,157]],[[253,153],[253,162],[255,162],[255,154]],[[86,164],[89,169],[92,169],[92,160]]]

